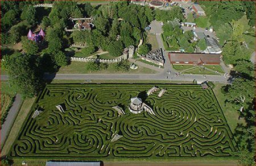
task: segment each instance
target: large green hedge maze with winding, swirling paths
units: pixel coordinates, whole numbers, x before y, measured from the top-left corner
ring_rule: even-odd
[[[146,97],[152,86],[165,88]],[[139,96],[156,115],[132,114]],[[56,109],[64,105],[65,113]],[[119,115],[113,106],[125,111]],[[42,110],[32,118],[36,109]],[[115,141],[113,135],[119,137]],[[212,89],[174,84],[50,84],[36,99],[10,151],[13,157],[232,156],[236,151]]]

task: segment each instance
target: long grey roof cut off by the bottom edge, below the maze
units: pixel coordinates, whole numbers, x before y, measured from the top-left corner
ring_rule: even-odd
[[[100,166],[100,161],[86,162],[86,161],[47,161],[46,166]]]

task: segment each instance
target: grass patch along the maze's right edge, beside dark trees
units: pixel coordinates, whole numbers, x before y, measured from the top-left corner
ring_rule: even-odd
[[[225,94],[221,93],[221,87],[226,84],[214,83],[214,85],[215,88],[213,89],[213,92],[217,97],[218,103],[220,103],[221,109],[225,115],[226,121],[228,122],[231,131],[234,133],[234,130],[237,127],[238,123],[246,124],[245,119],[241,118],[240,120],[238,120],[238,111],[225,106]]]

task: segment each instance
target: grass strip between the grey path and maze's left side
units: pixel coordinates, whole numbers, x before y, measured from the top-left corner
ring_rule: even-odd
[[[6,155],[9,152],[11,146],[14,143],[14,140],[20,133],[22,124],[23,124],[24,120],[27,118],[27,114],[30,112],[31,106],[34,103],[34,101],[35,101],[35,98],[30,98],[30,99],[24,100],[24,102],[19,110],[19,113],[14,121],[13,127],[11,127],[10,134],[7,137],[5,144],[2,148],[2,156]]]

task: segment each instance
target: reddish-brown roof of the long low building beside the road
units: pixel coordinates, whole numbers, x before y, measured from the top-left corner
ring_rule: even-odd
[[[189,61],[203,63],[220,63],[220,54],[208,53],[169,53],[170,61]]]

